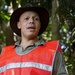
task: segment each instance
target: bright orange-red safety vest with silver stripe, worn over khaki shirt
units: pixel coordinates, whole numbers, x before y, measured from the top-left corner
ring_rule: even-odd
[[[58,41],[46,42],[27,54],[18,55],[6,46],[0,57],[0,75],[52,75]]]

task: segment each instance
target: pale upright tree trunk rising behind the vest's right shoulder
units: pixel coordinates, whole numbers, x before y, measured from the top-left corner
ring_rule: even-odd
[[[53,0],[52,3],[52,40],[58,40],[60,38],[59,34],[59,16],[56,13],[56,10],[58,8],[58,0]]]

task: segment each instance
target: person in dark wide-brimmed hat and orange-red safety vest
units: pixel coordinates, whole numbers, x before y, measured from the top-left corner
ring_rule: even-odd
[[[49,22],[43,7],[26,5],[13,12],[10,26],[21,40],[4,47],[0,75],[68,75],[57,40],[38,38]]]

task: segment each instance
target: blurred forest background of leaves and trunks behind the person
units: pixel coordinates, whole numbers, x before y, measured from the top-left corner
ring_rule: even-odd
[[[75,0],[0,0],[0,52],[20,39],[12,32],[9,21],[12,12],[27,3],[47,8],[50,21],[40,37],[59,40],[69,75],[75,75]]]

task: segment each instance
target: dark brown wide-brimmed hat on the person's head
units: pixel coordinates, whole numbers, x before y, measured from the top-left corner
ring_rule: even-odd
[[[19,21],[19,17],[21,16],[21,14],[26,11],[35,11],[36,13],[38,13],[41,21],[41,28],[38,35],[42,34],[48,26],[49,13],[47,9],[40,6],[25,6],[16,9],[10,17],[10,26],[13,32],[15,32],[18,36],[21,36],[21,30],[18,29],[17,22]]]

